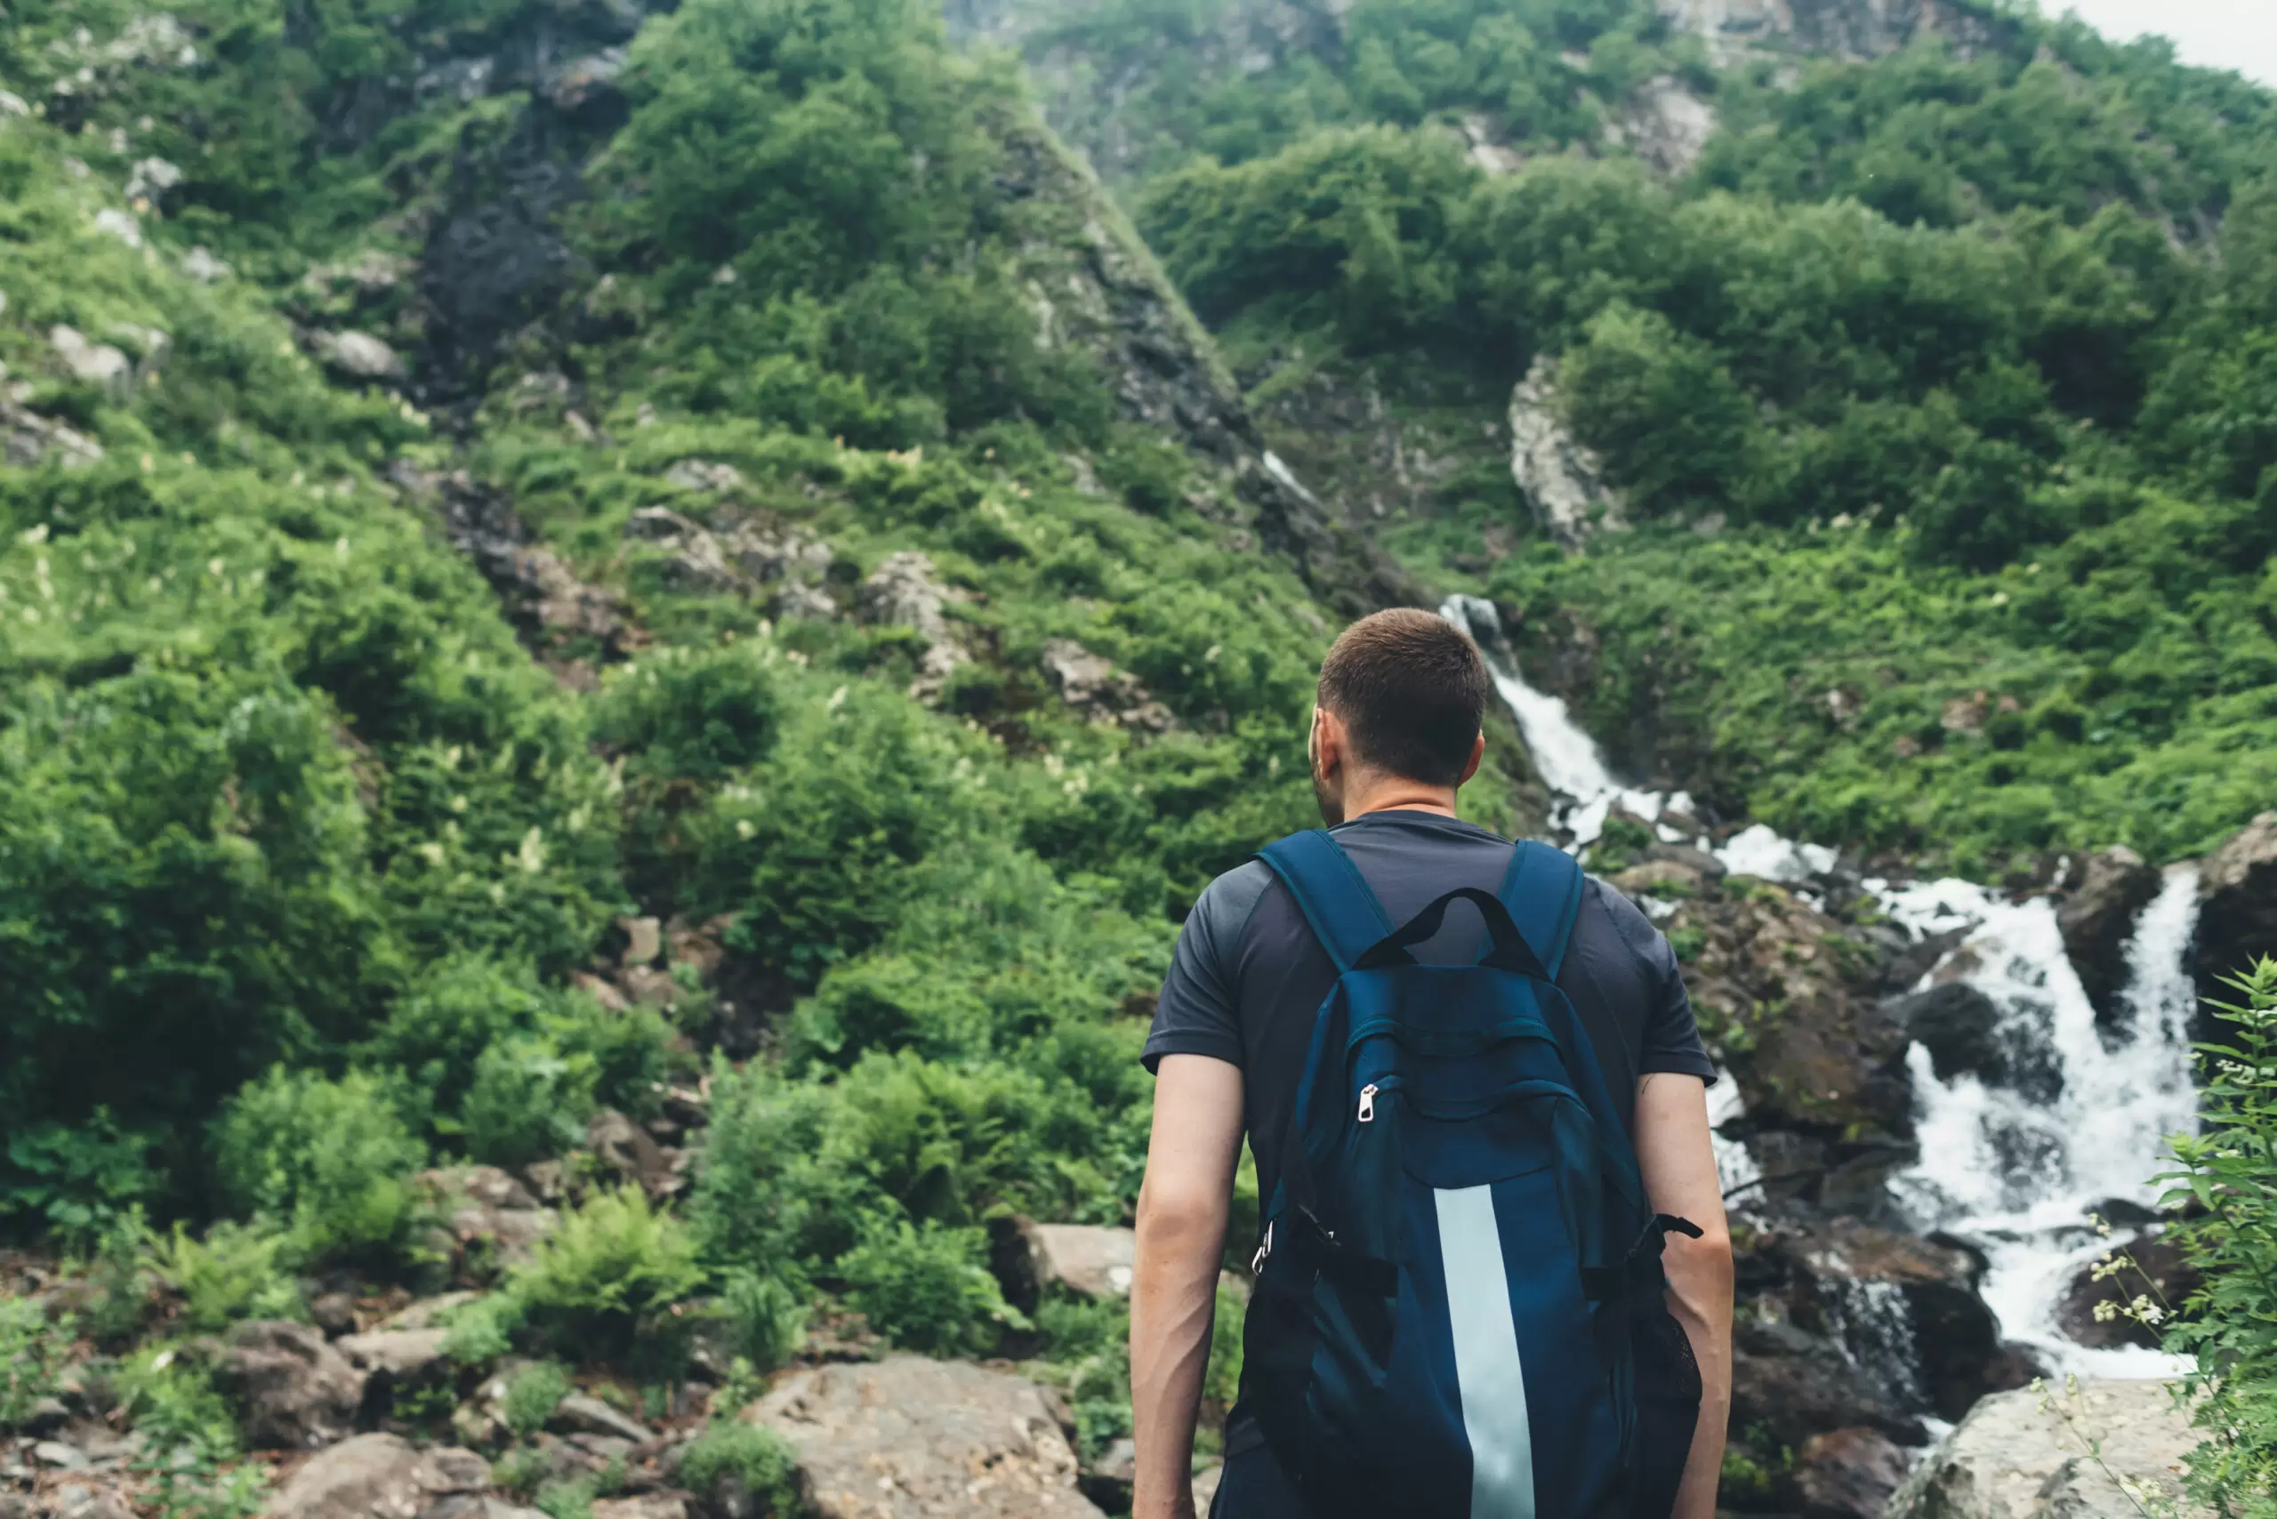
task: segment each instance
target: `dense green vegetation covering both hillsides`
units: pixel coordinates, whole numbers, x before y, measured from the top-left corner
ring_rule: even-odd
[[[2270,98],[2036,20],[1719,71],[1649,11],[1036,48],[1145,64],[1091,125],[1259,401],[1473,440],[1384,535],[1639,777],[1981,872],[2259,811]],[[1674,182],[1603,148],[1649,80],[1724,123]],[[1127,1216],[1150,993],[1312,815],[1330,624],[1223,440],[1132,421],[1118,364],[1214,358],[1175,303],[1100,342],[1152,262],[1013,59],[913,0],[23,0],[0,89],[0,1239],[80,1278],[0,1300],[0,1423],[91,1348],[164,1505],[244,1514],[196,1337],[462,1280],[556,1519],[572,1362],[701,1350],[733,1412],[856,1316],[1127,1432],[1116,1307],[1006,1303],[990,1230]],[[1639,522],[1578,558],[1475,442],[1544,358]],[[560,1187],[542,1243],[437,1227],[469,1164]]]

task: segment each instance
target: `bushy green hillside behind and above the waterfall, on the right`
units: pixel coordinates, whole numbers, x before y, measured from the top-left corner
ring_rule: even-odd
[[[1275,446],[1628,777],[1979,872],[2261,808],[2268,91],[1963,2],[1011,16],[1177,123],[1095,150]]]

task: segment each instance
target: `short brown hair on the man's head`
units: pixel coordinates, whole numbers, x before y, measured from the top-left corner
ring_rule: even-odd
[[[1446,617],[1403,606],[1362,617],[1321,660],[1321,706],[1353,758],[1425,786],[1455,786],[1487,711],[1487,660]]]

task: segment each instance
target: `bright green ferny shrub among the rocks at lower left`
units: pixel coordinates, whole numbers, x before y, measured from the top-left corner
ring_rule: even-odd
[[[683,1330],[667,1309],[704,1280],[694,1239],[638,1187],[594,1191],[515,1266],[505,1296],[546,1344],[606,1360],[669,1362]]]

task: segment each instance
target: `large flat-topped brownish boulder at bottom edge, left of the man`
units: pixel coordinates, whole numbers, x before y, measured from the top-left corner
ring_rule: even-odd
[[[1093,1519],[1034,1382],[893,1355],[799,1371],[747,1414],[797,1451],[815,1519]]]

